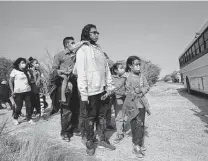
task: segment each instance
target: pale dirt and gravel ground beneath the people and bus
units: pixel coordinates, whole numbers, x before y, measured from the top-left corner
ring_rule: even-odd
[[[81,139],[74,136],[70,143],[60,138],[60,115],[40,120],[36,125],[26,122],[14,126],[11,111],[0,110],[0,121],[8,118],[7,129],[16,135],[30,136],[39,133],[68,148],[69,160],[102,161],[208,161],[208,97],[195,93],[190,95],[181,84],[159,82],[148,94],[151,116],[146,117],[147,147],[144,159],[132,154],[131,136],[116,145],[115,151],[97,149],[96,155],[85,155]],[[109,133],[111,141],[115,133]]]

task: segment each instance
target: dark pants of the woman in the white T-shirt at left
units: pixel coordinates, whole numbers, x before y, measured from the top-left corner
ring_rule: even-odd
[[[26,118],[29,121],[32,117],[31,93],[15,93],[14,101],[16,103],[16,109],[14,110],[14,119],[18,119],[19,115],[21,114],[23,101],[25,101]]]

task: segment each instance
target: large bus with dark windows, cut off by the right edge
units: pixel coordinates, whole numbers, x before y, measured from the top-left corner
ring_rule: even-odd
[[[208,21],[179,57],[181,80],[188,93],[208,94]]]

